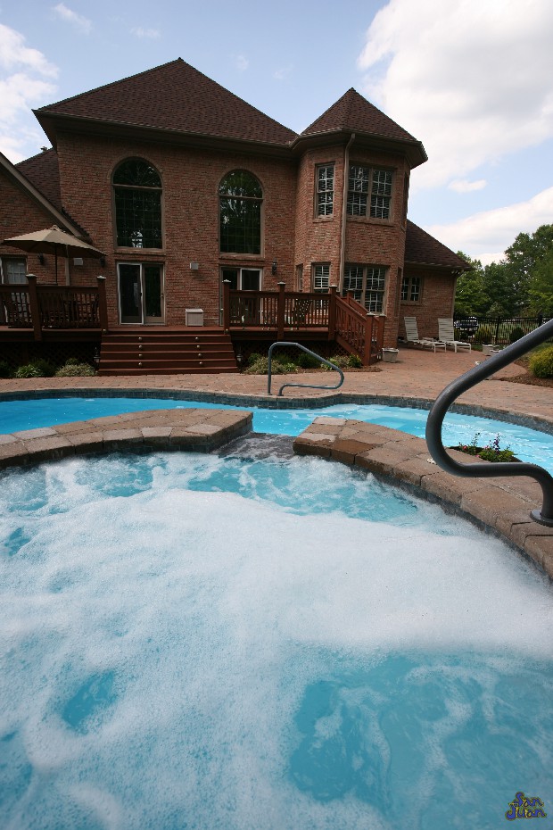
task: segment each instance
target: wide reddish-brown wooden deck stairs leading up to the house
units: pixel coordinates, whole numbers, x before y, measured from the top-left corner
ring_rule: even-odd
[[[136,327],[102,336],[99,375],[219,374],[237,371],[222,328]]]

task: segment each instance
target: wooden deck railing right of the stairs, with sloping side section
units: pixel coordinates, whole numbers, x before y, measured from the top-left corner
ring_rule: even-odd
[[[225,331],[265,329],[282,340],[285,331],[323,329],[325,339],[359,355],[364,365],[381,355],[384,320],[368,314],[351,295],[339,297],[335,286],[328,294],[314,294],[285,291],[284,283],[278,291],[237,291],[223,283]]]

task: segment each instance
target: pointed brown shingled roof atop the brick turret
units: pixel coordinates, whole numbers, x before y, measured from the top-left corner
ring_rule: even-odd
[[[331,132],[336,129],[351,130],[351,132],[367,133],[373,136],[396,138],[400,141],[417,141],[407,130],[384,115],[374,104],[367,101],[363,95],[351,87],[326,112],[307,129],[302,136],[312,136],[316,133]]]

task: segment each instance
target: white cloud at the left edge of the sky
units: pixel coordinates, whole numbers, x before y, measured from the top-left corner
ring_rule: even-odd
[[[26,145],[36,149],[45,138],[30,108],[52,100],[57,67],[25,38],[0,24],[0,151],[12,162],[25,158]]]

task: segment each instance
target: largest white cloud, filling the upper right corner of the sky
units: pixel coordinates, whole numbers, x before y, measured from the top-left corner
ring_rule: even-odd
[[[553,136],[550,0],[390,0],[367,31],[364,92],[425,143],[418,187]]]

